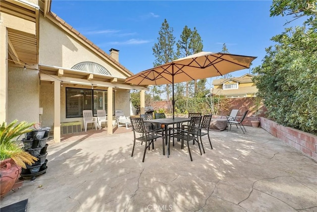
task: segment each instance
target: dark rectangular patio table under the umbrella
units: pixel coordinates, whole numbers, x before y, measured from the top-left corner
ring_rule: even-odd
[[[171,124],[177,124],[179,125],[183,122],[190,121],[190,118],[183,118],[183,117],[175,117],[173,118],[158,118],[158,119],[150,119],[150,120],[144,120],[146,123],[152,123],[152,124],[164,124],[164,130],[165,130],[165,144],[167,144],[167,158],[169,157],[169,140],[167,135],[167,126]],[[163,155],[165,155],[165,148],[163,148]]]

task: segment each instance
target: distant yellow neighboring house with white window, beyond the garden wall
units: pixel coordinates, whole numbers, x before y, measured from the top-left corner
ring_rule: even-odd
[[[252,81],[254,75],[245,74],[241,77],[216,79],[212,81],[212,95],[227,98],[254,97],[258,89]]]

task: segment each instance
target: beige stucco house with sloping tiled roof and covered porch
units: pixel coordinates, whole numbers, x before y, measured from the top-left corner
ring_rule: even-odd
[[[83,122],[84,109],[106,109],[112,134],[114,110],[130,115],[129,91],[148,90],[124,83],[133,73],[119,51],[105,53],[54,14],[51,0],[1,0],[0,47],[0,122],[41,119],[54,142],[61,123]]]

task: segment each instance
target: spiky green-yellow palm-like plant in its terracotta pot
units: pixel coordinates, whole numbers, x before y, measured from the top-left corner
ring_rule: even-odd
[[[0,196],[4,196],[13,187],[21,173],[21,167],[31,165],[37,158],[25,152],[23,145],[19,145],[16,139],[34,129],[30,128],[34,123],[17,120],[10,124],[2,123],[0,126]],[[15,125],[16,124],[16,125]]]

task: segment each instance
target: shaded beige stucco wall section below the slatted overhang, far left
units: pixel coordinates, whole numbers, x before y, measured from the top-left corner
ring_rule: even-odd
[[[8,118],[39,122],[39,71],[8,67]]]

